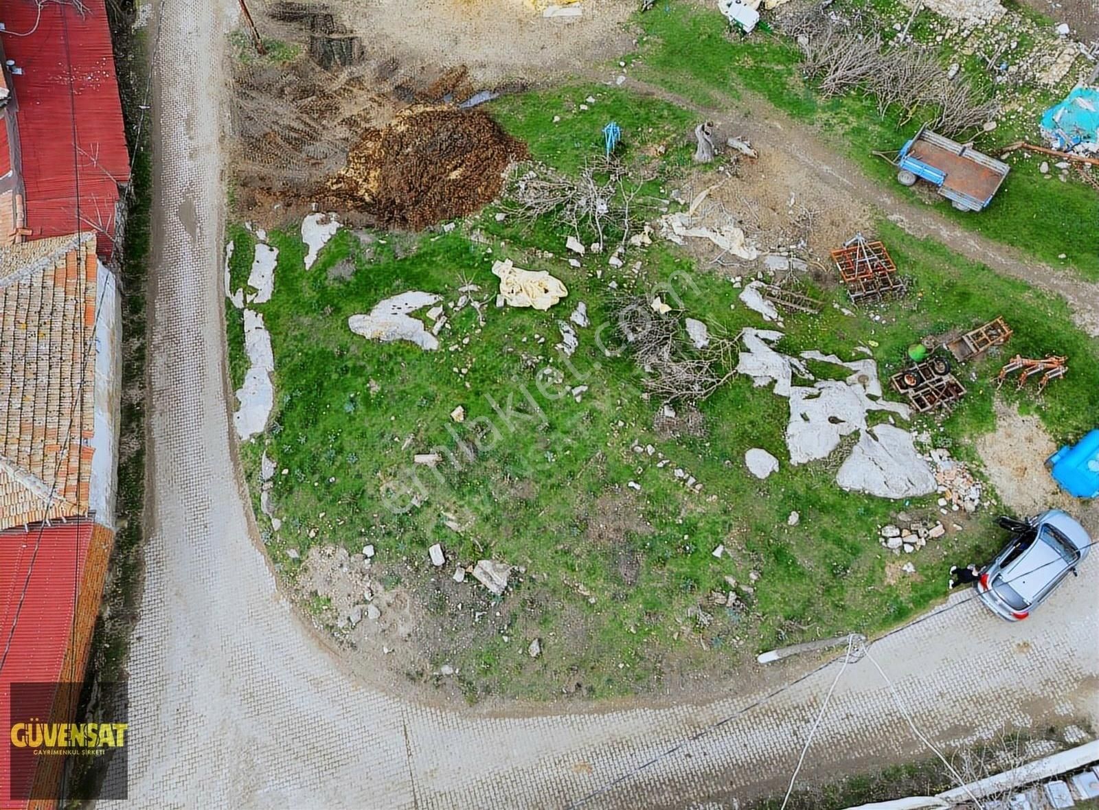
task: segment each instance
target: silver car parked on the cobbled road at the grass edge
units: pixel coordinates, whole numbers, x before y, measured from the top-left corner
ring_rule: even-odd
[[[1048,509],[1030,520],[997,521],[1014,537],[977,580],[977,594],[992,612],[1022,621],[1088,555],[1091,538],[1069,515]]]

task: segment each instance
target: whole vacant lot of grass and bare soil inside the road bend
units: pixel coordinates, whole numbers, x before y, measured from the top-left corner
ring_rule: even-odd
[[[853,4],[836,8],[851,11]],[[246,286],[257,241],[278,249],[274,295],[249,304],[271,336],[274,408],[264,434],[246,442],[242,455],[271,560],[319,627],[370,668],[385,662],[398,677],[468,700],[700,695],[725,688],[730,677],[751,678],[748,664],[762,650],[897,625],[944,596],[952,564],[997,549],[1001,537],[991,527],[998,498],[988,482],[1009,482],[986,475],[983,459],[1010,452],[997,437],[1019,424],[1017,409],[1047,434],[1035,437],[1035,447],[1073,440],[1092,427],[1099,344],[1072,326],[1059,299],[914,239],[886,212],[807,177],[787,157],[796,142],[754,144],[757,158],[726,149],[715,164],[691,162],[696,124],[710,112],[726,121],[730,111],[751,113],[762,97],[891,183],[895,169],[870,153],[896,150],[917,124],[902,123],[892,110],[879,116],[857,92],[821,98],[802,77],[792,41],[763,31],[731,37],[709,3],[665,0],[633,16],[639,35],[630,54],[618,27],[626,16],[622,3],[591,4],[595,13],[582,27],[555,29],[544,43],[528,12],[517,15],[519,3],[499,19],[486,15],[489,5],[431,9],[444,5],[445,19],[454,18],[455,31],[468,33],[468,41],[443,48],[447,41],[432,26],[444,18],[432,12],[404,50],[390,38],[390,7],[343,8],[344,23],[373,32],[385,47],[369,49],[363,64],[341,74],[331,97],[326,74],[304,65],[293,45],[273,42],[274,57],[245,59],[242,68],[245,159],[234,191],[241,218],[258,217],[268,230],[257,236],[257,226],[231,228],[229,289]],[[888,31],[908,18],[892,0],[875,2],[874,11]],[[1018,36],[1012,59],[1044,53],[1046,21],[1012,13],[981,36],[1011,31]],[[942,30],[929,14],[912,27],[928,44],[937,46],[943,36],[944,68],[958,59],[963,75],[991,89],[977,53],[958,56],[984,40],[963,43]],[[500,59],[482,53],[486,32],[493,31],[510,31],[522,49]],[[276,33],[300,37],[301,27],[286,23]],[[535,59],[543,44],[545,58]],[[639,97],[575,79],[518,91],[517,58],[536,60],[543,77],[598,69],[660,93]],[[1037,140],[1036,113],[1067,83],[1068,77],[1042,89],[998,86],[1014,112],[981,134],[978,146],[996,154],[1020,137]],[[506,91],[481,109],[529,149],[522,171],[575,180],[599,165],[603,127],[613,121],[623,134],[615,156],[636,185],[635,229],[687,212],[706,190],[700,212],[732,217],[765,254],[792,248],[807,260],[788,281],[817,300],[820,312],[765,323],[740,299],[762,262],[731,258],[696,239],[675,245],[658,226],[614,261],[610,249],[580,256],[565,243],[571,235],[590,246],[596,235],[588,225],[574,229],[552,214],[518,216],[514,185],[497,205],[445,226],[453,214],[418,211],[417,224],[431,224],[424,232],[378,227],[384,217],[375,209],[385,183],[371,173],[381,165],[371,145],[398,144],[385,159],[392,159],[395,177],[403,177],[404,145],[424,146],[410,151],[422,164],[437,140],[401,123],[414,116],[393,119],[395,112],[410,103],[435,109],[480,87]],[[282,88],[281,94],[271,88]],[[387,126],[392,130],[378,135]],[[374,140],[359,139],[368,131]],[[719,128],[714,139],[720,146],[737,134]],[[364,204],[341,212],[345,227],[307,269],[301,216],[311,200],[326,200],[321,189],[332,188],[330,178],[349,151],[365,156],[356,157],[364,164]],[[1083,225],[1099,213],[1095,191],[1075,175],[1064,181],[1056,172],[1041,175],[1040,161],[1022,153],[1008,160],[1008,184],[979,215],[957,215],[934,195],[913,193],[965,227],[1066,273],[1099,278],[1095,234]],[[495,177],[469,171],[478,165],[455,159],[457,168],[443,172],[464,189],[489,189],[462,211],[496,193]],[[429,177],[421,168],[410,164],[408,177]],[[409,194],[400,188],[403,202]],[[429,191],[421,198],[417,190],[418,204],[432,204]],[[865,310],[850,304],[828,251],[856,230],[886,241],[908,280],[907,297]],[[617,238],[609,234],[608,244]],[[492,267],[502,260],[547,271],[568,295],[546,312],[498,307]],[[379,342],[348,328],[352,316],[404,293],[437,296],[434,314],[429,306],[411,313],[412,324],[425,330],[445,318],[436,350],[410,340]],[[870,415],[872,425],[896,421],[924,437],[924,451],[948,449],[967,463],[986,482],[983,505],[973,515],[944,514],[940,493],[886,500],[842,491],[836,469],[855,437],[824,460],[791,465],[789,403],[745,376],[729,376],[704,401],[677,400],[666,409],[646,390],[650,373],[629,353],[608,350],[621,342],[615,313],[628,295],[645,302],[660,296],[659,303],[674,306],[669,317],[698,319],[715,341],[733,341],[732,365],[742,329],[779,328],[778,351],[818,350],[845,361],[869,352],[882,381],[904,365],[914,342],[1004,315],[1014,336],[959,372],[968,394],[952,413],[911,423]],[[574,319],[581,303],[586,318]],[[233,385],[240,387],[248,367],[244,318],[234,305],[226,312]],[[565,330],[577,339],[567,357]],[[1033,384],[997,392],[993,378],[1014,353],[1067,356],[1069,374],[1043,394]],[[819,378],[837,373],[817,363],[812,371]],[[777,457],[779,470],[764,481],[752,476],[745,468],[751,448]],[[433,465],[415,463],[417,455],[433,453]],[[940,520],[945,535],[913,553],[879,542],[885,525]],[[429,556],[436,543],[445,556],[441,566]],[[513,566],[502,595],[474,581],[478,560]]]

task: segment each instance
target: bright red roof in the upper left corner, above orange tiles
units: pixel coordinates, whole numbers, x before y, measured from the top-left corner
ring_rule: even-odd
[[[84,5],[81,16],[67,3],[40,9],[34,0],[4,0],[0,22],[7,30],[33,33],[0,38],[4,57],[22,70],[11,83],[27,238],[97,228],[106,258],[130,157],[104,0]]]

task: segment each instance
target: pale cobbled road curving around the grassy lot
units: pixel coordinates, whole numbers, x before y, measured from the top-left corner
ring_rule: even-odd
[[[317,643],[255,544],[230,449],[224,109],[210,69],[220,64],[226,11],[209,0],[166,2],[155,104],[149,537],[131,653],[126,810],[563,807],[756,702],[761,695],[731,685],[704,705],[487,717],[373,691]],[[1084,577],[1018,626],[961,599],[873,646],[928,734],[955,743],[1001,725],[1099,722],[1099,595]],[[588,806],[682,807],[779,785],[835,666]],[[852,665],[811,767],[850,770],[917,751],[868,662]]]

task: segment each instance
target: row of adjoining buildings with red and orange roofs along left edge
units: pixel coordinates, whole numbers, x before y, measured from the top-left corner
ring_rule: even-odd
[[[114,539],[130,160],[104,0],[82,3],[0,0],[0,810],[57,805],[66,757],[13,755],[11,711],[68,720],[78,689],[11,689],[84,682]]]

